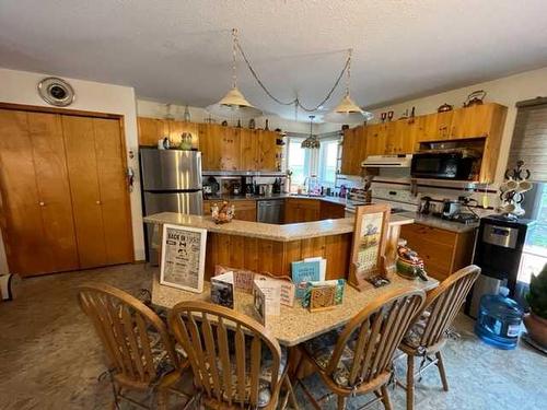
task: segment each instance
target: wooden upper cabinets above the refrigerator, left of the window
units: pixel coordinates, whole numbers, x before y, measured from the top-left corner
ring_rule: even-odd
[[[280,168],[281,137],[269,130],[223,127],[218,124],[197,124],[156,118],[138,118],[139,144],[156,145],[168,137],[172,144],[181,143],[181,136],[191,134],[191,147],[202,155],[206,171],[278,171]]]

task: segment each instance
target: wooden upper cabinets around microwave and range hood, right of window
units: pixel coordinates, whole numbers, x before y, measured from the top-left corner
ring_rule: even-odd
[[[490,183],[496,174],[505,115],[507,107],[487,103],[346,130],[340,172],[359,175],[361,161],[366,156],[411,154],[421,142],[482,139],[479,180]]]

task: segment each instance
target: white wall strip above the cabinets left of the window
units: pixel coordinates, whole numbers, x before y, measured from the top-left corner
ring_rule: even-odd
[[[172,105],[171,114],[176,119],[182,119],[184,115],[184,106],[183,105]],[[190,119],[194,122],[205,122],[206,118],[209,117],[209,113],[205,108],[200,107],[188,107],[190,113]],[[164,103],[158,103],[147,99],[137,99],[137,114],[140,117],[151,117],[151,118],[164,118],[167,114],[167,107]],[[222,122],[224,118],[212,117],[217,122]],[[269,129],[275,130],[276,128],[281,128],[283,131],[292,131],[292,132],[310,132],[310,124],[309,122],[298,122],[290,121],[277,116],[263,116],[255,119],[257,128],[264,128],[266,118],[269,119]],[[229,125],[236,126],[237,120],[229,121]],[[243,127],[248,126],[248,121],[242,122]]]

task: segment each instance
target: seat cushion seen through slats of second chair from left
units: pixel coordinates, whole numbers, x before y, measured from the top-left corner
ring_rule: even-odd
[[[249,355],[251,355],[251,349],[247,345],[245,349],[245,356],[249,356]],[[281,347],[281,361],[279,363],[278,377],[281,377],[283,375],[284,370],[287,367],[287,360],[288,360],[287,349]],[[237,380],[237,368],[236,368],[235,363],[236,363],[235,353],[231,353],[230,354],[230,364],[231,364],[230,374],[231,374],[231,378],[232,378],[232,386],[235,386],[236,385],[235,382]],[[245,399],[244,399],[244,403],[248,402],[249,398],[251,398],[251,377],[249,377],[249,375],[251,375],[251,368],[249,368],[251,361],[247,361],[246,364],[247,364],[247,368],[245,368]],[[272,366],[272,364],[274,364],[274,362],[272,362],[270,352],[263,350],[261,368],[260,368],[260,375],[259,375],[259,382],[258,382],[258,407],[259,408],[266,407],[271,399],[271,391],[270,391],[269,385],[271,382],[271,366]],[[222,371],[223,370],[222,370],[222,363],[221,363],[219,358],[217,360],[217,368],[219,372],[219,377],[222,378]],[[213,383],[212,377],[210,378],[209,383],[212,385],[212,383]],[[223,399],[229,400],[228,394],[225,391],[223,391]],[[241,402],[237,399],[237,391],[235,391],[235,390],[232,391],[232,401],[237,402],[237,403]]]

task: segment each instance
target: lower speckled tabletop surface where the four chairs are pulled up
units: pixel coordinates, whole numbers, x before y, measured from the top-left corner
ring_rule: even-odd
[[[294,301],[293,307],[281,305],[281,314],[279,316],[269,316],[266,327],[279,343],[292,347],[347,324],[364,306],[388,291],[401,288],[418,288],[429,291],[439,284],[434,279],[423,282],[419,279],[404,279],[394,273],[389,274],[389,279],[392,283],[386,286],[373,288],[370,285],[370,289],[365,289],[362,292],[346,284],[342,304],[328,311],[310,313],[310,311],[299,304],[300,301],[298,300]],[[257,318],[254,313],[253,296],[251,294],[236,291],[234,300],[235,311]],[[152,303],[154,305],[168,309],[183,301],[209,302],[210,283],[205,282],[202,293],[191,293],[161,285],[158,276],[154,277],[152,284]]]

